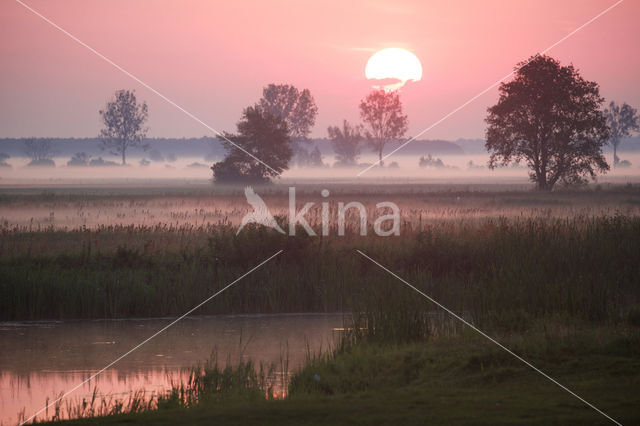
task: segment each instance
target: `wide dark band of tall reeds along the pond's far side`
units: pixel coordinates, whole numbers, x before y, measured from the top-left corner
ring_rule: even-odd
[[[619,321],[640,301],[640,218],[486,218],[411,222],[400,237],[283,236],[230,224],[3,229],[3,320],[180,315],[284,252],[199,314],[360,312],[415,299],[362,250],[478,324],[519,330],[540,318]],[[333,235],[333,236],[332,236]],[[426,300],[419,308],[433,310]],[[418,309],[418,308],[416,308]]]

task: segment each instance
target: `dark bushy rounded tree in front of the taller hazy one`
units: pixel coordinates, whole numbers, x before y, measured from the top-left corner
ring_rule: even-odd
[[[283,119],[256,105],[243,111],[237,127],[237,135],[225,134],[225,138],[246,152],[221,139],[227,156],[211,167],[216,182],[268,182],[288,168],[293,153],[289,129]],[[247,152],[264,161],[273,170],[247,155]]]

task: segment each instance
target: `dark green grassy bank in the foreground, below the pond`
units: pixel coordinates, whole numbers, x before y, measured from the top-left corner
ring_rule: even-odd
[[[563,328],[501,340],[623,424],[640,419],[637,329]],[[268,399],[255,388],[238,386],[224,397],[205,392],[188,407],[165,404],[69,424],[610,423],[470,332],[404,344],[359,341],[310,359],[285,400]]]

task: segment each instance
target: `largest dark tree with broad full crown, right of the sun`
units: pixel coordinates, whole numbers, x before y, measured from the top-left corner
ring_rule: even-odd
[[[604,99],[598,84],[584,80],[573,65],[536,55],[518,64],[514,79],[499,91],[486,119],[490,168],[524,161],[541,190],[609,170],[602,155],[609,138],[600,110]]]

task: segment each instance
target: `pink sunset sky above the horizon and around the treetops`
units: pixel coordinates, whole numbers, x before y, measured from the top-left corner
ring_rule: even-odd
[[[422,62],[402,89],[409,135],[552,45],[615,0],[591,1],[48,1],[26,3],[218,130],[269,83],[309,88],[312,135],[358,120],[371,89],[367,59],[403,47]],[[626,0],[549,52],[640,107],[640,2]],[[0,5],[0,137],[96,136],[116,89],[149,104],[150,136],[212,135],[155,94],[32,14]],[[497,89],[423,137],[479,138]]]

